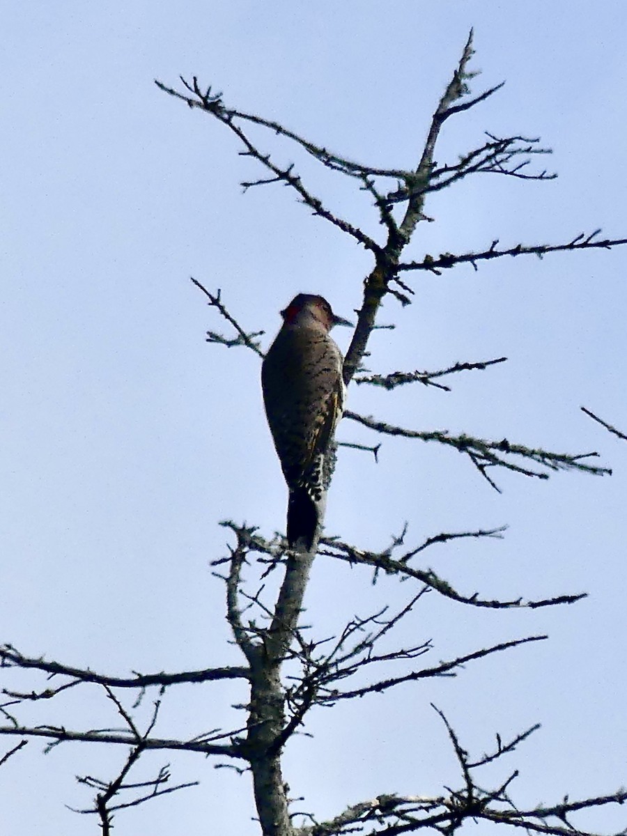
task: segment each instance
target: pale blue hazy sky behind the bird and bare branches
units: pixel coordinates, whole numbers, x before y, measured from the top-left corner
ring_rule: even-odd
[[[283,528],[285,490],[265,425],[257,359],[204,341],[221,329],[189,277],[264,329],[299,291],[339,314],[359,305],[370,258],[268,186],[221,125],[157,90],[196,74],[227,104],[257,112],[333,150],[411,166],[436,102],[475,27],[475,89],[507,79],[482,107],[450,120],[439,161],[482,144],[483,131],[541,135],[557,181],[477,176],[433,197],[408,256],[482,249],[494,238],[563,242],[603,227],[625,237],[624,40],[619,4],[380,0],[341,5],[9,2],[4,13],[0,250],[0,424],[5,568],[0,640],[24,653],[97,670],[236,664],[222,588],[209,562],[226,553],[225,517]],[[295,149],[258,135],[366,232],[369,201]],[[588,591],[568,609],[491,613],[427,596],[403,640],[436,643],[433,661],[548,631],[549,642],[312,716],[313,740],[286,756],[293,792],[322,818],[398,790],[438,793],[456,781],[446,711],[468,747],[485,751],[543,723],[507,766],[521,803],[613,791],[625,777],[624,497],[627,445],[580,411],[627,428],[624,273],[627,251],[500,260],[474,273],[411,277],[415,303],[383,311],[394,331],[372,339],[370,367],[437,369],[506,355],[459,375],[451,393],[351,387],[350,408],[416,429],[466,431],[569,452],[598,450],[611,478],[503,473],[492,492],[452,451],[385,440],[380,464],[344,450],[328,529],[382,548],[409,522],[408,543],[441,531],[507,523],[503,541],[434,547],[432,566],[488,597]],[[337,334],[345,348],[348,332]],[[342,441],[375,443],[344,421]],[[425,568],[426,568],[425,566]],[[329,560],[306,604],[318,635],[408,584]],[[7,686],[18,686],[11,677]],[[29,686],[30,687],[30,686]],[[171,693],[163,730],[228,725],[235,686]],[[65,721],[115,725],[99,690],[65,697]],[[109,711],[109,715],[107,715]],[[33,723],[57,718],[33,709]],[[164,734],[166,732],[164,731]],[[339,745],[339,741],[341,745]],[[4,743],[7,744],[8,741]],[[3,832],[96,832],[74,775],[115,774],[121,751],[68,744],[47,757],[31,742],[0,771]],[[0,753],[5,747],[0,747]],[[171,760],[201,788],[120,814],[124,833],[204,833],[206,823],[256,833],[247,778],[192,756]],[[312,768],[314,765],[314,768]],[[609,811],[582,826],[624,827]]]

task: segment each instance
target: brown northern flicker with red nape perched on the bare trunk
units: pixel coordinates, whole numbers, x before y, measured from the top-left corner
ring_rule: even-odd
[[[281,315],[283,326],[263,360],[263,402],[288,483],[288,543],[309,551],[324,517],[344,406],[343,359],[329,331],[350,323],[309,293],[298,293]]]

